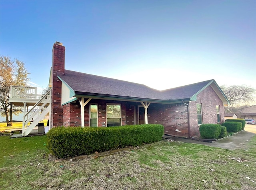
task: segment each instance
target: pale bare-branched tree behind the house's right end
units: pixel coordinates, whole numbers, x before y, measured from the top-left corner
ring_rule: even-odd
[[[241,113],[242,109],[255,100],[255,88],[246,85],[220,86],[227,96],[230,106],[225,107],[225,113]]]

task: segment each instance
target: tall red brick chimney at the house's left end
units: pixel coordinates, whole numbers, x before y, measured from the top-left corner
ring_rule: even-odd
[[[63,110],[61,106],[61,81],[57,75],[65,74],[65,47],[55,42],[52,48],[52,106],[51,126],[63,125]]]

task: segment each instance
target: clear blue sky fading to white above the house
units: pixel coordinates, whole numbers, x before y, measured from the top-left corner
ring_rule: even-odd
[[[159,90],[215,79],[256,88],[256,1],[0,1],[0,53],[45,88],[65,69]]]

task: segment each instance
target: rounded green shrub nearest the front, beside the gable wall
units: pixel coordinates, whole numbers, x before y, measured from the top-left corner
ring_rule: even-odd
[[[202,124],[199,127],[200,135],[206,139],[215,139],[220,136],[221,126],[219,124]]]

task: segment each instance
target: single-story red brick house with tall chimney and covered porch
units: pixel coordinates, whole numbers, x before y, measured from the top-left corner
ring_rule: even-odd
[[[202,123],[224,122],[230,104],[214,79],[168,90],[65,70],[65,47],[53,45],[51,126],[108,127],[157,123],[164,133],[199,135]],[[82,109],[81,109],[82,108]]]

